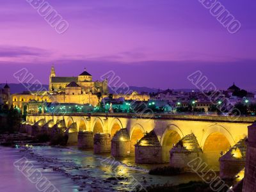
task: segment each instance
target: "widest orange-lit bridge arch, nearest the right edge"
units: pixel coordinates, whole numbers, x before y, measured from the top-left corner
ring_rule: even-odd
[[[218,144],[214,148],[218,150],[226,150],[228,147],[232,147],[236,144],[234,138],[230,134],[230,132],[223,127],[222,125],[211,125],[207,131],[205,132],[202,141],[200,143],[200,147],[203,148],[204,151],[209,151],[212,143]]]

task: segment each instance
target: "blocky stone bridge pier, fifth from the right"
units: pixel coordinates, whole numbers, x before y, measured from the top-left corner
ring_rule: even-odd
[[[93,138],[94,154],[107,153],[111,151],[111,136],[106,133],[96,133]]]

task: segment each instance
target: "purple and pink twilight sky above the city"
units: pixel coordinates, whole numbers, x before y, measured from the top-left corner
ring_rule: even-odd
[[[62,35],[26,0],[0,0],[0,82],[28,68],[48,83],[77,76],[86,67],[93,79],[109,70],[131,86],[194,88],[189,74],[201,70],[219,88],[234,81],[256,90],[256,1],[221,1],[241,22],[236,34],[191,0],[49,0],[67,20]]]

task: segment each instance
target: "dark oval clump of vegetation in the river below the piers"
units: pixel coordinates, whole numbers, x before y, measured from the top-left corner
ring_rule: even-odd
[[[152,168],[149,170],[149,175],[164,175],[164,176],[172,176],[172,175],[179,175],[184,173],[182,168],[174,168],[172,166],[164,166],[164,167],[157,167]]]

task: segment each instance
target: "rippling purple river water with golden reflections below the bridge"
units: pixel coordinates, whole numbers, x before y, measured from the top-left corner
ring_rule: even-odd
[[[0,147],[0,191],[38,191],[13,163],[26,157],[58,191],[134,191],[151,184],[180,184],[200,180],[194,173],[174,177],[148,175],[152,166],[134,164],[134,158],[115,160],[75,147]],[[56,191],[55,191],[56,192]]]

